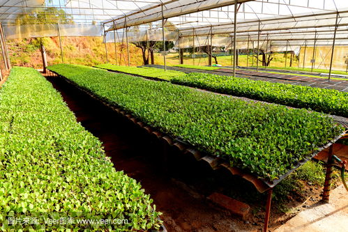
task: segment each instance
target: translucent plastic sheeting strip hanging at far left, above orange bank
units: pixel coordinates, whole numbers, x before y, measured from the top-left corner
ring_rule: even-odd
[[[59,36],[102,36],[103,26],[81,24],[30,24],[3,26],[7,39]]]

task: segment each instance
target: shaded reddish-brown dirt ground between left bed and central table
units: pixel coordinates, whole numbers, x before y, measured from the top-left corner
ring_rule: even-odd
[[[63,95],[68,107],[75,112],[77,121],[103,141],[107,156],[112,158],[115,168],[135,178],[146,194],[151,195],[156,209],[162,212],[160,218],[167,231],[262,231],[266,202],[264,194],[258,194],[248,184],[244,185],[243,180],[206,169],[180,155],[170,158],[171,165],[165,171],[160,162],[158,144],[145,133],[62,79],[47,79]],[[285,204],[289,210],[280,210],[277,202],[273,202],[270,231],[319,201],[322,187],[303,184],[305,192],[294,190],[289,196]],[[206,199],[213,192],[221,192],[244,202],[255,197],[255,202],[247,202],[252,208],[250,217],[243,220],[214,206]]]

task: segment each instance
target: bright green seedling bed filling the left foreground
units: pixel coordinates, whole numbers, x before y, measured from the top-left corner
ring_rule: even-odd
[[[114,169],[100,141],[77,123],[61,95],[39,72],[12,69],[0,89],[0,113],[3,230],[160,228],[150,196]],[[26,218],[29,222],[24,224]],[[68,218],[66,224],[47,223]],[[79,224],[80,219],[96,223]]]

